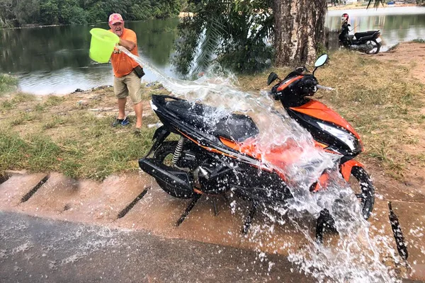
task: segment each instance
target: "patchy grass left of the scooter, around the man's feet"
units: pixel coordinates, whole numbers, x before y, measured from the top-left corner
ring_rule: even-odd
[[[115,105],[112,89],[107,92],[92,104]],[[145,92],[147,100],[149,90]],[[137,160],[150,149],[154,129],[145,127],[141,137],[135,137],[132,126],[111,127],[115,112],[96,117],[96,112],[81,109],[78,101],[72,96],[47,96],[40,101],[23,94],[4,98],[0,172],[58,171],[72,178],[103,180],[112,173],[138,171]],[[130,119],[135,121],[135,117]],[[148,124],[157,122],[154,117],[144,120]]]

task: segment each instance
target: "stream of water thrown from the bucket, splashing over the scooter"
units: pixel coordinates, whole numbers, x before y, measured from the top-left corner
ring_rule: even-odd
[[[260,131],[256,145],[261,149],[261,156],[266,156],[276,146],[290,146],[286,154],[288,159],[296,156],[295,162],[273,163],[263,158],[261,163],[284,173],[291,180],[289,185],[294,199],[288,203],[288,207],[271,207],[264,209],[263,214],[274,223],[289,221],[297,233],[305,237],[307,244],[301,248],[285,243],[289,260],[297,264],[300,270],[319,282],[397,282],[395,271],[382,263],[382,258],[388,255],[390,260],[398,261],[390,245],[391,238],[383,235],[370,238],[370,225],[361,215],[360,202],[337,170],[338,157],[317,149],[310,133],[292,120],[282,107],[275,108],[274,101],[267,93],[240,91],[234,86],[232,76],[223,77],[217,73],[212,76],[207,74],[197,81],[171,79],[147,60],[120,48],[152,71],[174,96],[215,107],[212,112],[205,113],[205,122],[210,125],[213,126],[215,121],[229,112],[252,117]],[[325,169],[331,175],[327,190],[310,193],[310,185]],[[311,235],[311,225],[300,221],[305,214],[317,218],[324,208],[335,219],[339,232],[338,240],[332,245],[317,243]],[[273,227],[254,227],[249,241],[259,241],[259,246],[261,240],[256,239],[255,229],[268,229],[273,233]],[[263,257],[263,253],[259,254]]]

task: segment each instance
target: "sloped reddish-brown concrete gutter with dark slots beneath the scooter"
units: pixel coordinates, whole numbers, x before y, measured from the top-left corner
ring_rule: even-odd
[[[257,213],[248,235],[242,235],[241,229],[244,217],[248,214],[248,203],[233,199],[231,196],[228,200],[215,199],[217,215],[215,215],[213,209],[212,197],[203,196],[187,219],[177,227],[176,221],[186,209],[190,200],[179,200],[171,197],[144,173],[112,175],[103,183],[90,180],[77,181],[58,173],[50,173],[45,183],[40,185],[40,181],[45,180],[45,178],[46,175],[43,174],[18,174],[5,180],[0,185],[0,211],[101,225],[107,231],[111,231],[109,229],[137,231],[128,233],[129,235],[140,233],[140,235],[143,235],[141,237],[145,237],[145,235],[159,237],[162,241],[170,244],[186,243],[180,242],[180,239],[191,243],[196,241],[193,245],[209,243],[232,250],[243,249],[246,253],[252,253],[252,256],[266,253],[267,256],[281,260],[288,256],[290,250],[296,250],[307,243],[302,233],[294,232],[297,229],[291,226],[292,224],[288,219],[283,218],[280,219],[280,224],[273,224],[270,220],[270,217],[276,216],[273,215],[273,212]],[[23,196],[28,195],[28,192],[33,191],[34,187],[37,186],[39,187],[33,195],[30,195],[26,202],[22,202]],[[380,188],[380,190],[382,189]],[[382,241],[382,245],[390,243],[392,249],[395,250],[395,242],[388,221],[387,198],[390,198],[396,214],[399,215],[409,247],[409,264],[414,270],[414,272],[408,272],[403,276],[413,280],[425,280],[425,204],[421,202],[423,196],[416,196],[413,193],[409,193],[409,195],[404,192],[399,192],[399,194],[402,195],[401,200],[397,200],[400,197],[397,197],[397,193],[391,193],[390,190],[385,195],[378,197],[373,215],[370,218],[370,231],[375,236],[384,235],[388,241]],[[125,211],[125,215],[123,211]],[[310,227],[312,237],[314,237],[315,224],[313,220],[309,217],[300,219],[303,224]],[[45,224],[40,224],[41,227],[48,228],[43,225]],[[62,224],[52,225],[62,227]],[[42,229],[37,228],[36,230],[37,233],[50,233],[49,229],[42,231]],[[33,231],[28,233],[32,234]],[[14,236],[11,235],[11,237]],[[66,239],[63,238],[62,241]],[[5,237],[5,240],[9,241],[10,238]],[[80,240],[84,241],[83,238]],[[96,242],[96,240],[94,241]],[[126,239],[124,243],[127,243],[127,241],[132,241],[132,238]],[[18,250],[19,247],[17,246]],[[10,248],[13,250],[13,247],[8,247],[8,249]],[[25,250],[28,246],[22,248]],[[249,250],[254,252],[249,252]],[[95,250],[94,254],[97,252]],[[102,257],[101,254],[96,256],[99,260]],[[152,256],[157,261],[157,256]],[[381,257],[391,258],[389,254],[381,255]],[[81,260],[84,261],[84,258],[85,256]],[[159,253],[159,258],[162,258],[161,253]],[[109,260],[111,264],[113,262],[110,258],[103,260]],[[243,262],[247,264],[247,262]],[[393,263],[389,262],[388,264],[392,265]],[[126,268],[130,268],[130,265]],[[0,282],[3,281],[0,280]]]

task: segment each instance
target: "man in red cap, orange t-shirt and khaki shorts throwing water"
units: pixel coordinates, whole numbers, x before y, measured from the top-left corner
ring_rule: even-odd
[[[132,54],[137,53],[137,37],[134,31],[124,28],[123,17],[119,13],[109,16],[109,27],[111,32],[120,37],[118,45],[125,47]],[[142,90],[140,88],[140,77],[137,76],[135,68],[141,69],[140,65],[121,50],[115,49],[111,56],[113,69],[113,91],[118,98],[118,117],[113,122],[113,127],[128,125],[130,121],[125,116],[125,103],[130,96],[133,109],[136,113],[136,133],[140,133],[142,127]]]

